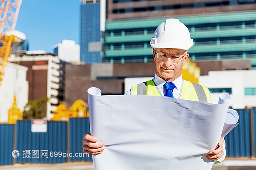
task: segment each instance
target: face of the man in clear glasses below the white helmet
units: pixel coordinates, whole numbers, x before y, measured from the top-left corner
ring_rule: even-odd
[[[163,60],[158,59],[156,53],[164,53],[167,55],[181,54],[181,61],[173,61],[170,56]],[[153,49],[154,61],[156,63],[157,75],[167,82],[172,82],[181,75],[182,66],[185,65],[189,54],[187,50],[172,49],[172,48],[155,48]]]

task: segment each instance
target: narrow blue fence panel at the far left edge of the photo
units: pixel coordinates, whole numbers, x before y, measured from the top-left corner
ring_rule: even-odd
[[[0,166],[12,165],[14,125],[0,125]]]

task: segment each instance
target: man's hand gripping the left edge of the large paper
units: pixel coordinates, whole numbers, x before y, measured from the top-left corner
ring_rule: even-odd
[[[98,142],[98,139],[92,137],[90,133],[83,135],[82,148],[84,153],[89,155],[100,154],[105,149],[102,142]]]

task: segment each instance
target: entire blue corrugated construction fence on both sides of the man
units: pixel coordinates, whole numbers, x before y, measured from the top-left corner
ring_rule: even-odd
[[[226,155],[254,157],[256,108],[237,112],[239,125],[225,137]],[[92,161],[91,155],[83,154],[82,139],[87,132],[90,132],[89,118],[70,118],[69,122],[49,121],[46,133],[32,133],[31,121],[26,120],[17,121],[15,125],[0,124],[0,165]],[[19,157],[12,157],[13,150],[19,151]]]

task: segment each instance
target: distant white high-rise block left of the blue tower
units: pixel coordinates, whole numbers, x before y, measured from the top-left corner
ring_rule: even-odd
[[[63,61],[80,61],[80,45],[75,41],[62,40],[61,43],[54,45],[53,52]]]

